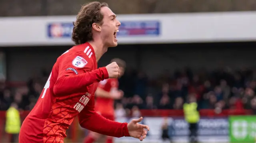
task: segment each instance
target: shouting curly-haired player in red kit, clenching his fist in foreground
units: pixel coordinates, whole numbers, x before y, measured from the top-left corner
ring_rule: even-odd
[[[97,69],[97,61],[108,47],[117,45],[119,26],[107,4],[91,2],[82,6],[72,33],[76,46],[58,57],[36,105],[22,123],[19,143],[63,143],[66,129],[76,116],[82,127],[100,134],[141,141],[146,137],[149,127],[138,123],[142,118],[119,123],[94,109],[98,82],[119,74],[115,62]]]

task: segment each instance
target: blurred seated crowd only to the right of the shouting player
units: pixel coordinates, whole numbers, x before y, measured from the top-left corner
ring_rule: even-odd
[[[186,68],[174,74],[166,71],[154,80],[142,72],[126,74],[120,79],[120,88],[126,93],[121,103],[124,108],[182,109],[187,97],[195,96],[200,109],[254,109],[255,76],[252,69],[230,68],[211,72]]]

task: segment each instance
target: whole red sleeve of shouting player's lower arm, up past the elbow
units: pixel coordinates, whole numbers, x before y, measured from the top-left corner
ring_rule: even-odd
[[[94,97],[88,102],[86,108],[78,115],[81,127],[112,137],[128,137],[127,123],[119,123],[104,118],[94,110]]]

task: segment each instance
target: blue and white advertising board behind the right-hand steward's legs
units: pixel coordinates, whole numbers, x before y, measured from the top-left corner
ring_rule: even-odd
[[[173,118],[170,136],[173,141],[188,141],[189,125],[184,118]],[[228,118],[201,118],[198,122],[198,141],[228,142]]]

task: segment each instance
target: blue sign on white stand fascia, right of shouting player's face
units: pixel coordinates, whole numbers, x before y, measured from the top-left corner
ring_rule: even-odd
[[[158,36],[160,35],[159,21],[123,21],[117,33],[120,37]]]

